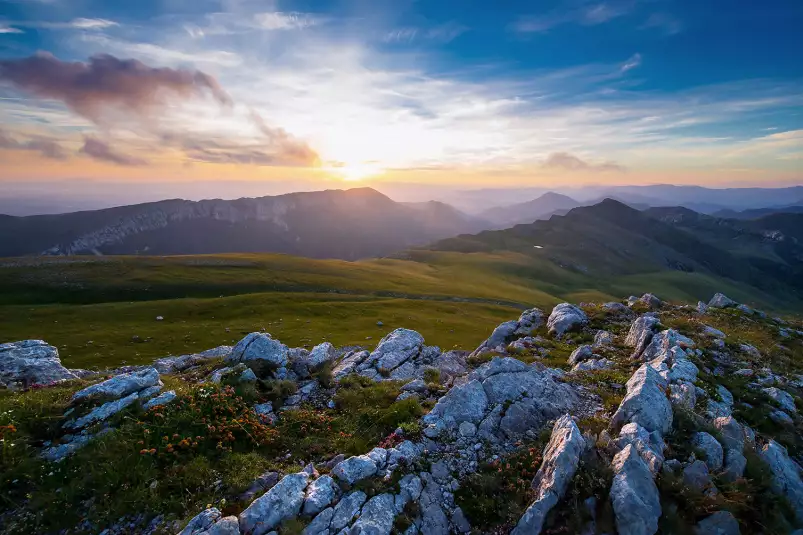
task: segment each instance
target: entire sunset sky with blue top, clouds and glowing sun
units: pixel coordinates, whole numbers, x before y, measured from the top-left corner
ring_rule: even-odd
[[[803,183],[799,0],[0,0],[3,184]]]

